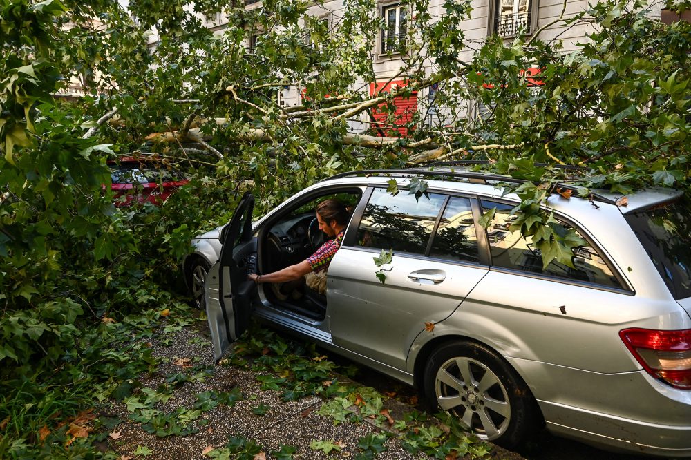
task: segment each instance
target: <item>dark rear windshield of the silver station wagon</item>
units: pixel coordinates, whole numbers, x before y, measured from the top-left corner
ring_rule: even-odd
[[[691,210],[685,201],[625,218],[675,299],[691,297]]]

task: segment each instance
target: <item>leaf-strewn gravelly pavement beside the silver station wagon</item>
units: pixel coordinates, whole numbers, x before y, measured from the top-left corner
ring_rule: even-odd
[[[196,331],[194,327],[183,327],[182,331],[169,334],[171,345],[165,346],[160,341],[152,341],[153,356],[160,359],[158,372],[140,383],[144,387],[157,388],[164,383],[166,376],[175,373],[190,374],[193,367],[196,370],[206,370],[211,373],[203,381],[187,381],[181,385],[167,401],[161,401],[155,408],[162,412],[171,412],[180,407],[193,408],[196,394],[215,390],[228,392],[239,388],[243,399],[237,401],[233,407],[217,405],[204,412],[193,421],[198,429],[196,434],[187,436],[158,437],[146,432],[140,423],[128,419],[131,414],[126,404],[113,403],[102,412],[102,415],[117,417],[124,420],[111,429],[114,437],[106,438],[101,447],[104,450],[116,452],[121,459],[205,459],[203,452],[209,448],[223,448],[230,437],[244,437],[254,441],[265,457],[271,459],[281,445],[291,445],[297,449],[296,459],[340,459],[357,455],[360,450],[358,441],[370,433],[379,433],[378,428],[368,419],[361,422],[343,422],[334,425],[330,417],[316,414],[323,400],[317,396],[307,396],[299,401],[281,401],[281,392],[261,390],[261,383],[256,380],[257,373],[232,365],[211,365],[211,343]],[[209,365],[209,366],[207,366]],[[339,380],[345,377],[339,376]],[[260,405],[267,407],[267,412],[257,415],[253,412]],[[385,408],[392,416],[399,416],[409,412],[409,405],[387,399]],[[312,450],[312,441],[334,441],[341,445],[341,452],[331,452],[326,455],[319,450]],[[379,454],[378,459],[424,459],[424,454],[413,455],[403,448],[395,437],[386,441],[387,450]],[[138,448],[145,447],[150,454],[144,457],[135,455]],[[140,450],[141,452],[141,450]],[[233,458],[233,457],[231,457]],[[250,457],[251,458],[251,457]],[[518,454],[494,448],[491,458],[520,460]]]

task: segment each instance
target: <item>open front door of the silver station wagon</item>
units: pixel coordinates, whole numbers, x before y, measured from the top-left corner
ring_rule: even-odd
[[[205,284],[207,318],[218,363],[231,342],[245,332],[251,315],[254,282],[247,275],[256,269],[256,241],[252,238],[254,196],[245,193],[223,231],[220,258]]]

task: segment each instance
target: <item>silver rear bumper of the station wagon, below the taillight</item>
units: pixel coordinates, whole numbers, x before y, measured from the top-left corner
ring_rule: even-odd
[[[691,391],[647,372],[589,372],[507,358],[529,382],[547,428],[600,448],[691,457]]]

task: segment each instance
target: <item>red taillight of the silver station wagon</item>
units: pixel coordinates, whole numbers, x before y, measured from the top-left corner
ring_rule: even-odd
[[[650,375],[681,390],[691,390],[691,329],[623,329],[621,340]]]

